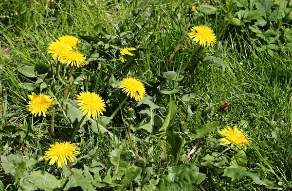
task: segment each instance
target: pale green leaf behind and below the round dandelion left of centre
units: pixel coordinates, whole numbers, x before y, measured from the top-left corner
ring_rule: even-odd
[[[71,122],[73,123],[73,121],[75,121],[75,119],[77,118],[78,122],[81,120],[81,118],[83,117],[83,113],[78,110],[78,106],[76,101],[70,100],[70,99],[65,99],[63,101],[64,105],[66,105],[65,108],[65,112],[67,114],[67,116],[70,118]],[[106,118],[103,118],[106,120]],[[84,121],[82,122],[81,126],[82,127],[86,121],[90,121],[91,122],[91,129],[93,132],[95,133],[107,133],[111,136],[112,139],[115,139],[115,141],[118,143],[120,142],[116,137],[114,137],[114,135],[112,134],[112,132],[110,132],[106,127],[104,127],[102,124],[97,124],[95,120],[93,119],[89,119],[87,116],[85,117]],[[102,120],[102,119],[100,119]]]

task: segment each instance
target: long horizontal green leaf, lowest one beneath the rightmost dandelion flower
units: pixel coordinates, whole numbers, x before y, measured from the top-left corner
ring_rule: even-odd
[[[258,174],[251,173],[245,170],[241,170],[238,168],[225,168],[224,174],[222,176],[228,176],[230,178],[243,178],[243,177],[251,177],[256,184],[261,184]]]

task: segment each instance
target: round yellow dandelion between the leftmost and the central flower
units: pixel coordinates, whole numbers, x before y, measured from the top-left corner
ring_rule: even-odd
[[[81,92],[76,99],[78,102],[77,106],[80,106],[79,110],[81,110],[84,115],[87,115],[88,118],[92,116],[93,119],[97,119],[103,115],[103,111],[106,111],[104,100],[94,92]]]

